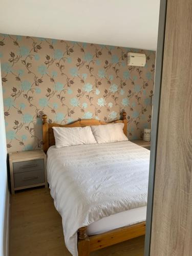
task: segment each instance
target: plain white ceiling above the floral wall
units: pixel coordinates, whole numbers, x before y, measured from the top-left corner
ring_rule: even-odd
[[[156,50],[160,0],[1,0],[0,32]]]

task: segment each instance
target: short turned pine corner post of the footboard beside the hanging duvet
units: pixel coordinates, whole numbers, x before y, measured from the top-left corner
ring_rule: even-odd
[[[87,234],[87,227],[78,230],[78,256],[90,255],[90,240]]]

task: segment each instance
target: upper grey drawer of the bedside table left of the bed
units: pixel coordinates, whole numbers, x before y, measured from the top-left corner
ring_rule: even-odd
[[[22,161],[13,163],[13,173],[25,173],[33,170],[44,169],[44,159]]]

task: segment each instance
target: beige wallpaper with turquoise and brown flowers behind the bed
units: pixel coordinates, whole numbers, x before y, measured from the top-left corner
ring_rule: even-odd
[[[127,52],[146,54],[128,67]],[[8,152],[42,146],[41,116],[62,124],[127,113],[127,136],[151,126],[155,52],[30,36],[0,34]]]

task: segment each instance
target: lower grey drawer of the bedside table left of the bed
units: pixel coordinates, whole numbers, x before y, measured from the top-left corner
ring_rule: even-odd
[[[25,173],[14,173],[14,187],[28,186],[45,182],[44,170],[32,170]]]

